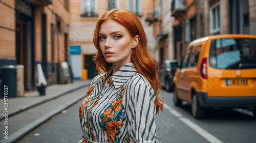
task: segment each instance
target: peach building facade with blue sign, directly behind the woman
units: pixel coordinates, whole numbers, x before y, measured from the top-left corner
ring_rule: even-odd
[[[92,60],[97,50],[93,44],[93,35],[98,19],[111,9],[127,9],[141,20],[148,37],[148,48],[156,55],[156,40],[153,36],[153,25],[148,25],[146,17],[154,13],[153,0],[73,0],[71,1],[70,26],[70,63],[74,77],[82,78],[84,70],[88,78],[97,75],[95,63]]]

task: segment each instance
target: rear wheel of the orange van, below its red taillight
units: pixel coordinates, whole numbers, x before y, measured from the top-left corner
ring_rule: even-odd
[[[200,119],[204,117],[204,109],[199,105],[196,92],[192,95],[191,112],[194,118]]]

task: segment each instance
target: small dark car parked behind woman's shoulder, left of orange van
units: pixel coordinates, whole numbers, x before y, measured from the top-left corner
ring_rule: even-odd
[[[159,79],[166,91],[173,91],[173,77],[178,68],[178,61],[164,60],[159,71]]]

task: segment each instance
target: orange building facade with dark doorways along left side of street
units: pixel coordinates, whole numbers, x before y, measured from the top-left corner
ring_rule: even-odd
[[[37,64],[49,84],[69,61],[69,0],[0,0],[0,67],[23,65],[25,90],[35,90]]]

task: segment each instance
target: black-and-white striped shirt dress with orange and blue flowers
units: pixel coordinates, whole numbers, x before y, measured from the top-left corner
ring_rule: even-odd
[[[111,68],[104,75],[96,76],[79,108],[83,131],[80,142],[88,139],[159,143],[155,99],[150,82],[138,73],[133,63],[125,64],[113,75]]]

